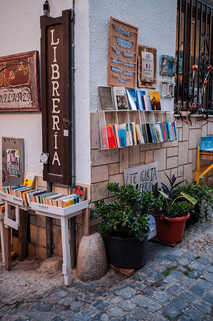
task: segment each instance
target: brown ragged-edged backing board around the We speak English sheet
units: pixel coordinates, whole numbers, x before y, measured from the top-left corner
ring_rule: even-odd
[[[141,80],[141,51],[145,52],[151,52],[153,54],[153,60],[154,60],[154,79],[153,82],[144,82]],[[138,45],[137,50],[137,56],[138,56],[138,87],[147,87],[147,88],[156,88],[157,84],[157,49],[152,47],[146,47],[142,45]]]

